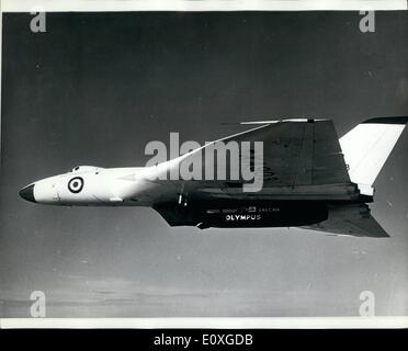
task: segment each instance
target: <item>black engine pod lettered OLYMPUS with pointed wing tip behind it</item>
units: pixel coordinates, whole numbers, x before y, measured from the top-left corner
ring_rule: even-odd
[[[363,197],[361,199],[364,200]],[[154,208],[172,226],[207,228],[302,227],[330,235],[388,237],[364,202],[217,201],[165,203]]]

